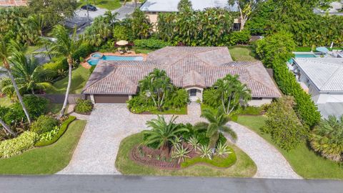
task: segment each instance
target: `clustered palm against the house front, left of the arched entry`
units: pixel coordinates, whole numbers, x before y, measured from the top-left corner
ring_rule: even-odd
[[[139,81],[141,91],[146,92],[146,96],[152,99],[154,105],[161,111],[169,94],[174,90],[174,86],[166,75],[166,71],[154,69],[148,76]]]

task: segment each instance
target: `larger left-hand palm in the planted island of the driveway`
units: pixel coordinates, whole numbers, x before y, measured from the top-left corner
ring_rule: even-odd
[[[144,134],[148,136],[144,144],[149,145],[158,143],[158,148],[169,153],[174,139],[177,138],[177,133],[189,132],[188,129],[179,127],[178,124],[175,124],[175,119],[177,119],[177,117],[173,116],[167,123],[163,116],[158,116],[157,119],[151,119],[146,122],[146,125],[151,128],[151,130],[144,131]]]

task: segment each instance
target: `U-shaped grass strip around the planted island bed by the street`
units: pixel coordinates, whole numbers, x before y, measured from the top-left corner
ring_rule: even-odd
[[[129,158],[129,153],[134,145],[143,142],[143,134],[133,134],[123,139],[116,157],[116,169],[126,175],[157,175],[157,176],[196,176],[196,177],[252,177],[257,172],[257,167],[241,149],[230,145],[237,155],[237,162],[229,168],[216,168],[204,164],[197,164],[184,169],[157,169],[142,164],[137,164]]]

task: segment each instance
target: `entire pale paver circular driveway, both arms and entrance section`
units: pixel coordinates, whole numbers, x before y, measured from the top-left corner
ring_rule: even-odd
[[[192,103],[188,114],[179,115],[177,122],[204,121],[200,113],[200,105]],[[131,114],[126,104],[96,104],[69,166],[59,174],[120,174],[114,163],[121,140],[147,129],[146,121],[154,118],[156,115]],[[237,146],[257,164],[255,177],[299,178],[272,145],[246,127],[232,122],[230,126],[237,132]]]

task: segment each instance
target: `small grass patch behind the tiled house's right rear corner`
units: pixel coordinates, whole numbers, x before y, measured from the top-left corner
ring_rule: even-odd
[[[229,46],[234,61],[255,61],[252,48],[249,46]]]

